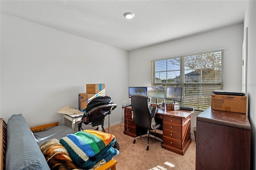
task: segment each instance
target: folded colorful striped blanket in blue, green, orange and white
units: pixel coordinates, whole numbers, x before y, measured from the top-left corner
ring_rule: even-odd
[[[112,153],[116,137],[98,130],[81,130],[60,139],[73,162],[83,169],[92,168]]]

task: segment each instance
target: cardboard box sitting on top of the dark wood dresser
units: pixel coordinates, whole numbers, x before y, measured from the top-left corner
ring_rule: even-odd
[[[247,97],[212,94],[211,108],[219,111],[247,113]]]

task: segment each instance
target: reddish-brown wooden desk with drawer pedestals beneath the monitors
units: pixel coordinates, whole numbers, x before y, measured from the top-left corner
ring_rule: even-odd
[[[124,109],[124,134],[136,137],[145,134],[146,129],[132,122],[132,107]],[[184,155],[191,143],[190,115],[192,111],[178,110],[166,111],[158,109],[155,118],[162,120],[163,142],[162,148]]]

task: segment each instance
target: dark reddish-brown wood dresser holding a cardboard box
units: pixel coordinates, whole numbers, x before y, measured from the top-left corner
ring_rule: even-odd
[[[196,117],[196,170],[250,170],[246,114],[210,107]]]

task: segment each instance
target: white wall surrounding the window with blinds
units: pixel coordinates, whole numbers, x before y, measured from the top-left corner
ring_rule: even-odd
[[[150,60],[225,47],[224,90],[242,90],[243,24],[222,28],[129,52],[129,86],[151,85]],[[194,135],[196,115],[192,115]]]

